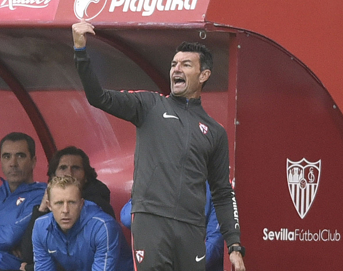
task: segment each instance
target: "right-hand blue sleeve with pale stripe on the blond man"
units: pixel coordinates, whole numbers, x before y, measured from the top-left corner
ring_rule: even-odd
[[[116,271],[120,255],[119,224],[112,221],[99,220],[99,230],[95,236],[95,255],[92,271]]]

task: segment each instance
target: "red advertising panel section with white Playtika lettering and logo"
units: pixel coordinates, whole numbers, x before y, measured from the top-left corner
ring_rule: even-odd
[[[84,17],[99,22],[199,22],[203,21],[209,1],[60,0],[55,20],[75,21]]]

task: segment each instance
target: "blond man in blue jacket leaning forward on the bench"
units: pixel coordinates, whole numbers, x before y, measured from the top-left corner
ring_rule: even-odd
[[[32,233],[35,271],[132,271],[130,248],[120,225],[81,197],[81,183],[53,177],[47,187],[50,213],[36,219]]]

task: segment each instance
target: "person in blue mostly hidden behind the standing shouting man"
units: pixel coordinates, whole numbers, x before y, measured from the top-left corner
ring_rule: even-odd
[[[224,239],[219,230],[219,223],[215,214],[210,186],[206,181],[206,271],[223,271]],[[131,228],[131,199],[120,212],[120,221],[127,228]]]

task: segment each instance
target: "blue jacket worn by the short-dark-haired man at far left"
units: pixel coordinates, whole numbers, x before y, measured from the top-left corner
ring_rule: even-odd
[[[21,260],[10,253],[21,240],[32,209],[40,205],[46,183],[23,183],[11,193],[8,182],[0,186],[0,269],[19,269]]]

